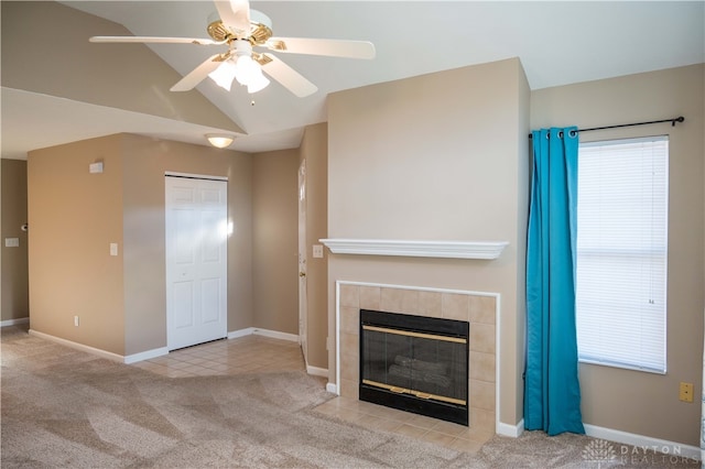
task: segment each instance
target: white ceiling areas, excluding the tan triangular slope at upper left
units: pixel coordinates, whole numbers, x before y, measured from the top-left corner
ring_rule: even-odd
[[[212,1],[65,1],[134,35],[208,37]],[[371,41],[372,61],[280,54],[318,91],[296,98],[279,84],[247,95],[204,80],[197,90],[248,133],[231,149],[297,148],[326,120],[329,92],[519,57],[532,89],[705,62],[705,2],[252,1],[276,36]],[[116,46],[116,45],[111,45]],[[150,45],[184,75],[224,46]],[[155,57],[155,59],[158,59]],[[188,92],[198,92],[188,91]],[[254,105],[252,106],[252,99]],[[205,144],[205,129],[152,116],[2,88],[2,157],[131,132]],[[70,122],[62,116],[72,116]],[[561,122],[556,122],[561,124]]]

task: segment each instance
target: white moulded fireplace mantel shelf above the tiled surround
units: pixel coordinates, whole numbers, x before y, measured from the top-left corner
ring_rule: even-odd
[[[382,239],[322,239],[334,254],[405,255],[414,258],[497,259],[507,241],[406,241]]]

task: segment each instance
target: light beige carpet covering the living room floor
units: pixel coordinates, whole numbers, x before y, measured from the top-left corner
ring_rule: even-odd
[[[303,372],[166,378],[15,327],[1,353],[2,468],[699,467],[538,432],[460,452],[316,412],[334,396]]]

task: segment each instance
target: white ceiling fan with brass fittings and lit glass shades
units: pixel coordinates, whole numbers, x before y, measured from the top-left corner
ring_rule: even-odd
[[[235,79],[257,92],[269,85],[262,75],[265,72],[295,96],[303,98],[318,89],[299,72],[273,54],[256,52],[265,47],[278,53],[323,55],[330,57],[375,58],[375,45],[367,41],[327,39],[275,37],[271,20],[257,10],[250,10],[248,0],[215,1],[217,14],[207,31],[212,39],[155,37],[155,36],[93,36],[95,43],[161,43],[227,45],[226,52],[212,55],[178,83],[172,91],[188,91],[206,77],[218,86],[230,90]]]

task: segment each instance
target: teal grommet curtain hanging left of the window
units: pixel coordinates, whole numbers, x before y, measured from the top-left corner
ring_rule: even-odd
[[[575,330],[577,128],[532,132],[524,427],[584,434]]]

